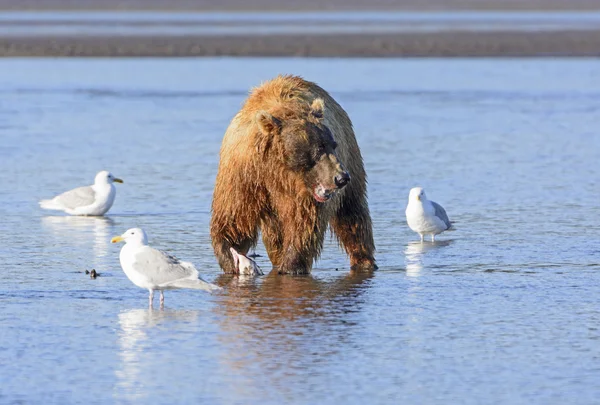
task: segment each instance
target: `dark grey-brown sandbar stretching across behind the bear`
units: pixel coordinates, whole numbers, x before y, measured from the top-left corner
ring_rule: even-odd
[[[3,57],[600,57],[600,30],[0,38]]]

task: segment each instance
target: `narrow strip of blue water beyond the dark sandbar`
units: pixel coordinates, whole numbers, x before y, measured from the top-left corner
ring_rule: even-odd
[[[589,30],[600,12],[0,12],[0,35],[272,35]]]

